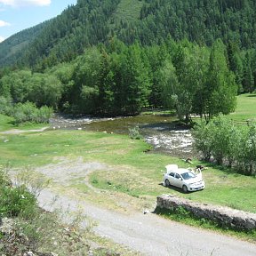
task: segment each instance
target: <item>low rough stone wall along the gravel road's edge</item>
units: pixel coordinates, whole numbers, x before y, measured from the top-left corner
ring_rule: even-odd
[[[212,204],[199,204],[175,196],[157,196],[157,207],[162,209],[175,209],[182,206],[192,212],[197,218],[213,220],[220,226],[238,230],[252,230],[256,228],[256,214],[238,211],[232,208]]]

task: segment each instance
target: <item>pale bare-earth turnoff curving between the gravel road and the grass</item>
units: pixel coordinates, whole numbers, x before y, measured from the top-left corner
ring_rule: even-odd
[[[92,172],[106,172],[103,175],[107,176],[117,172],[120,166],[108,166],[100,162],[84,163],[83,157],[77,157],[76,159],[56,157],[54,161],[56,164],[48,164],[36,168],[36,172],[40,172],[44,174],[46,179],[50,179],[51,187],[61,195],[68,195],[76,199],[79,198],[79,200],[83,200],[84,202],[126,213],[143,212],[145,207],[148,207],[148,201],[152,202],[152,204],[149,203],[152,209],[156,205],[156,198],[127,196],[116,191],[95,188],[90,183],[89,177]]]

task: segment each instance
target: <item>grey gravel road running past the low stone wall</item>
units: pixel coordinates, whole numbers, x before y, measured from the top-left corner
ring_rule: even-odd
[[[46,210],[60,206],[63,211],[82,210],[92,220],[97,221],[98,225],[94,230],[100,236],[106,236],[117,244],[124,244],[144,255],[256,255],[256,244],[164,220],[153,213],[124,215],[84,201],[78,202],[67,196],[58,197],[52,206],[52,198],[55,196],[50,190],[44,189],[38,197],[40,205]]]

